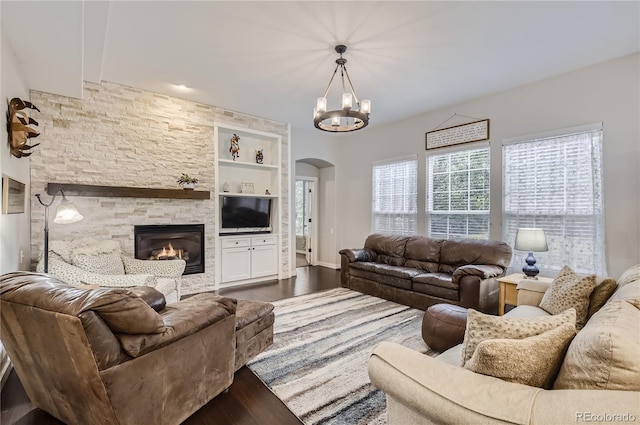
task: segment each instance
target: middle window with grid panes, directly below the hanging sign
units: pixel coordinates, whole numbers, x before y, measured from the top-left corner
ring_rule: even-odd
[[[489,148],[427,158],[427,236],[489,239]]]

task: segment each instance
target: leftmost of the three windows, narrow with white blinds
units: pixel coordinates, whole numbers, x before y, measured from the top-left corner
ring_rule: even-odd
[[[418,233],[418,159],[373,164],[373,233]]]

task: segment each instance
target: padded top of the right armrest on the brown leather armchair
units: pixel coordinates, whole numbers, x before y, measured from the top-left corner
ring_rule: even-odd
[[[237,302],[233,298],[198,294],[168,305],[160,315],[165,330],[158,334],[117,334],[122,349],[131,357],[140,357],[181,338],[234,315]]]

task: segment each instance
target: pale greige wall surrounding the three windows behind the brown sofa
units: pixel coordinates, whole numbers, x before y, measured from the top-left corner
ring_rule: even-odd
[[[630,55],[390,125],[367,128],[341,140],[336,163],[340,170],[336,173],[338,248],[360,247],[370,233],[372,162],[417,153],[423,182],[425,132],[455,113],[491,120],[493,239],[500,239],[502,234],[502,140],[602,121],[607,271],[618,277],[640,262],[639,64],[640,55]],[[424,185],[419,190],[424,193]]]

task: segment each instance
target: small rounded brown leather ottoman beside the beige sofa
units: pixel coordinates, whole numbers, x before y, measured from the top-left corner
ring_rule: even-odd
[[[424,312],[422,339],[439,352],[462,343],[467,327],[467,309],[452,304],[435,304]]]

